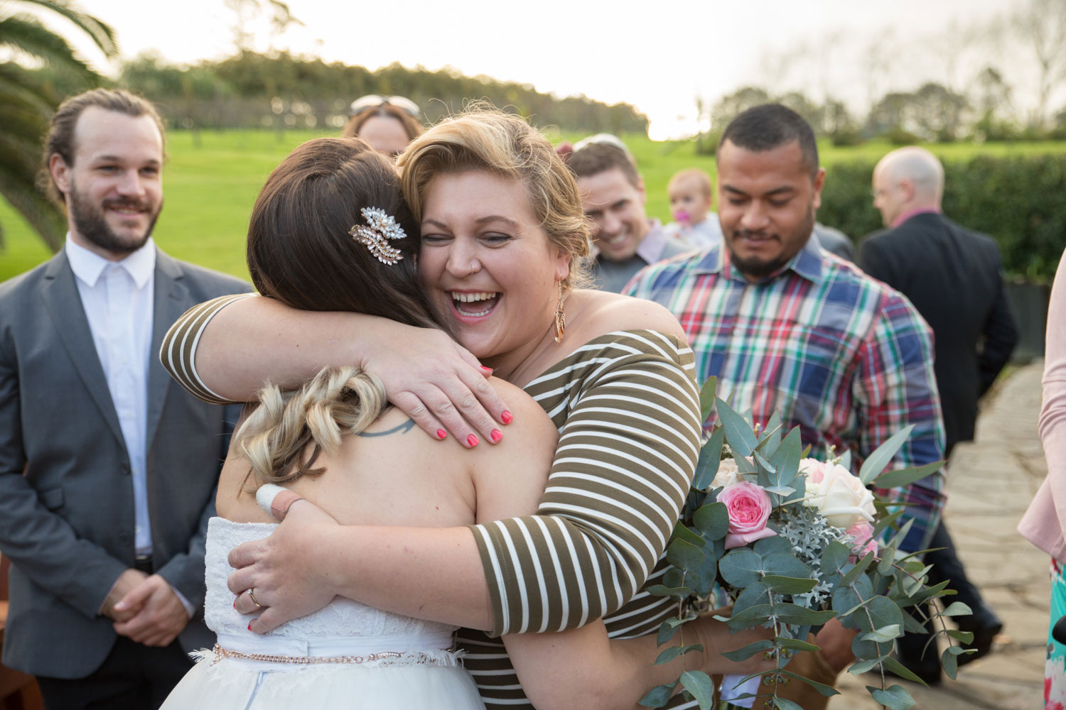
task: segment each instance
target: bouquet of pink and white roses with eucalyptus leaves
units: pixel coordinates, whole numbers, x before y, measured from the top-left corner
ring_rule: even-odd
[[[807,682],[825,696],[838,694],[787,665],[795,653],[817,650],[807,641],[808,633],[835,617],[858,631],[852,644],[856,661],[849,672],[881,672],[881,684],[867,687],[873,699],[891,710],[914,706],[906,690],[898,684],[886,688],[885,682],[885,671],[921,682],[890,656],[893,639],[904,631],[924,632],[902,610],[920,609],[922,602],[954,592],[946,589],[947,582],[925,583],[930,567],[921,562],[921,554],[899,549],[910,522],[900,526],[903,511],[889,511],[899,506],[883,502],[868,486],[906,485],[943,462],[885,470],[909,435],[907,427],[873,451],[855,476],[850,452],[827,463],[804,458],[798,429],[782,434],[776,414],[763,431],[753,431],[740,414],[714,397],[714,386],[712,378],[704,385],[700,402],[705,420],[716,407],[721,424],[700,450],[693,488],[667,547],[673,567],[662,584],[649,590],[678,601],[678,616],[662,625],[659,644],[679,630],[681,643],[664,649],[658,662],[701,650],[684,645],[684,624],[698,610],[713,606],[708,600],[717,587],[732,599],[732,616],[717,618],[733,629],[761,626],[774,631],[773,641],[758,641],[725,656],[741,661],[764,654],[776,661],[776,670],[769,674],[726,676],[720,708],[750,708],[758,700],[764,708],[802,710],[777,696],[778,687],[791,680]],[[954,602],[936,615],[968,613],[966,605]],[[954,678],[956,658],[966,650],[950,641],[969,643],[972,637],[940,622],[936,634],[949,637],[941,662]],[[687,671],[678,681],[682,693],[700,708],[711,707],[714,689],[709,676]],[[641,705],[666,705],[675,686],[652,689]]]

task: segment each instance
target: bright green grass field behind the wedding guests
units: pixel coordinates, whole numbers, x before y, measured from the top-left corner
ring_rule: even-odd
[[[244,235],[256,195],[271,169],[293,147],[316,135],[323,134],[292,131],[281,134],[279,141],[271,131],[205,132],[199,136],[199,145],[194,145],[192,133],[172,132],[167,138],[168,160],[163,182],[165,209],[156,227],[156,242],[179,259],[247,278]],[[696,155],[692,143],[657,143],[643,136],[627,136],[626,142],[644,174],[648,214],[664,221],[669,220],[666,183],[672,175],[689,167],[714,175],[714,159]],[[957,161],[976,153],[1063,152],[1066,143],[950,144],[930,148],[944,160]],[[855,148],[825,145],[822,164],[831,180],[835,163],[873,161],[890,149],[891,146],[879,143]],[[50,257],[44,243],[2,199],[0,224],[5,230],[5,246],[0,250],[0,281]]]

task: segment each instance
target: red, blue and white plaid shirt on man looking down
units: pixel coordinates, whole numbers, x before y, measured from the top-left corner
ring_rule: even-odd
[[[623,290],[669,309],[696,354],[699,381],[764,426],[776,410],[810,456],[851,449],[861,462],[908,424],[894,468],[942,457],[932,331],[902,294],[813,241],[776,274],[749,282],[713,247],[643,269]],[[713,424],[713,420],[709,424]],[[915,519],[902,549],[924,549],[943,507],[943,470],[885,492]]]

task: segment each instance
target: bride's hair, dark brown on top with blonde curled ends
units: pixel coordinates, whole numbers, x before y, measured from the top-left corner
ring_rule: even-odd
[[[386,264],[352,237],[365,208],[391,216],[406,236]],[[248,224],[247,264],[259,293],[305,311],[354,311],[440,328],[415,262],[419,230],[388,158],[358,138],[316,138],[266,179]],[[258,483],[321,474],[319,452],[358,433],[386,406],[381,381],[356,367],[325,368],[295,392],[268,384],[235,434]]]

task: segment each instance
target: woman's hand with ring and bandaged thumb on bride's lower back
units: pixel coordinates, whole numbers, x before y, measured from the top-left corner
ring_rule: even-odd
[[[281,624],[322,609],[336,596],[330,573],[337,565],[323,551],[328,534],[339,528],[333,517],[303,498],[289,507],[265,540],[238,545],[229,552],[229,591],[233,608],[255,614],[248,628],[265,633]],[[255,590],[255,601],[247,590]],[[259,606],[256,606],[256,605]]]

